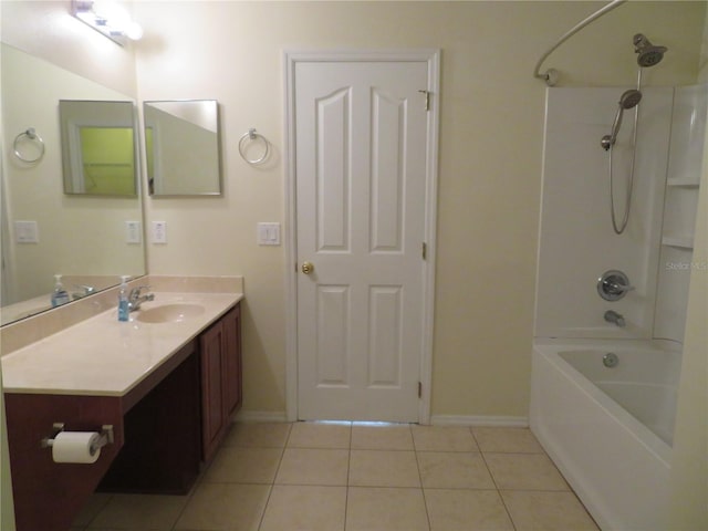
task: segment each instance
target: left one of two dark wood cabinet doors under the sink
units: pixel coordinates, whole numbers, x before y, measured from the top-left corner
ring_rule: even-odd
[[[226,427],[223,415],[223,326],[217,323],[200,337],[202,454],[208,461]]]

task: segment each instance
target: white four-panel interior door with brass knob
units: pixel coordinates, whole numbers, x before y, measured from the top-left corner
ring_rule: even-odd
[[[295,64],[301,419],[418,420],[428,69]]]

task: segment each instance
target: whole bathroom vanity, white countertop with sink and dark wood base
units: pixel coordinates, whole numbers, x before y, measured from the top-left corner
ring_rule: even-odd
[[[65,531],[98,490],[186,493],[241,405],[240,293],[156,292],[2,357],[18,531]],[[97,460],[46,441],[101,431]],[[44,440],[44,442],[42,442]]]

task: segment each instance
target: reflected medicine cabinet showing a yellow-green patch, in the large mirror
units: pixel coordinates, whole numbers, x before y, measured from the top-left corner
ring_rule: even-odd
[[[59,102],[64,192],[135,196],[132,102]]]

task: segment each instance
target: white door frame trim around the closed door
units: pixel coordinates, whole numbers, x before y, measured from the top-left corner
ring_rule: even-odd
[[[289,51],[283,52],[284,94],[284,199],[285,199],[285,416],[289,421],[298,420],[298,205],[295,194],[295,66],[300,62],[427,62],[429,112],[427,116],[427,167],[425,184],[425,228],[426,259],[424,260],[424,316],[420,355],[420,382],[418,400],[418,423],[430,421],[430,387],[433,381],[433,332],[435,311],[435,261],[437,227],[437,181],[438,181],[438,128],[440,50],[344,50],[344,51]],[[421,95],[420,104],[424,104]]]

